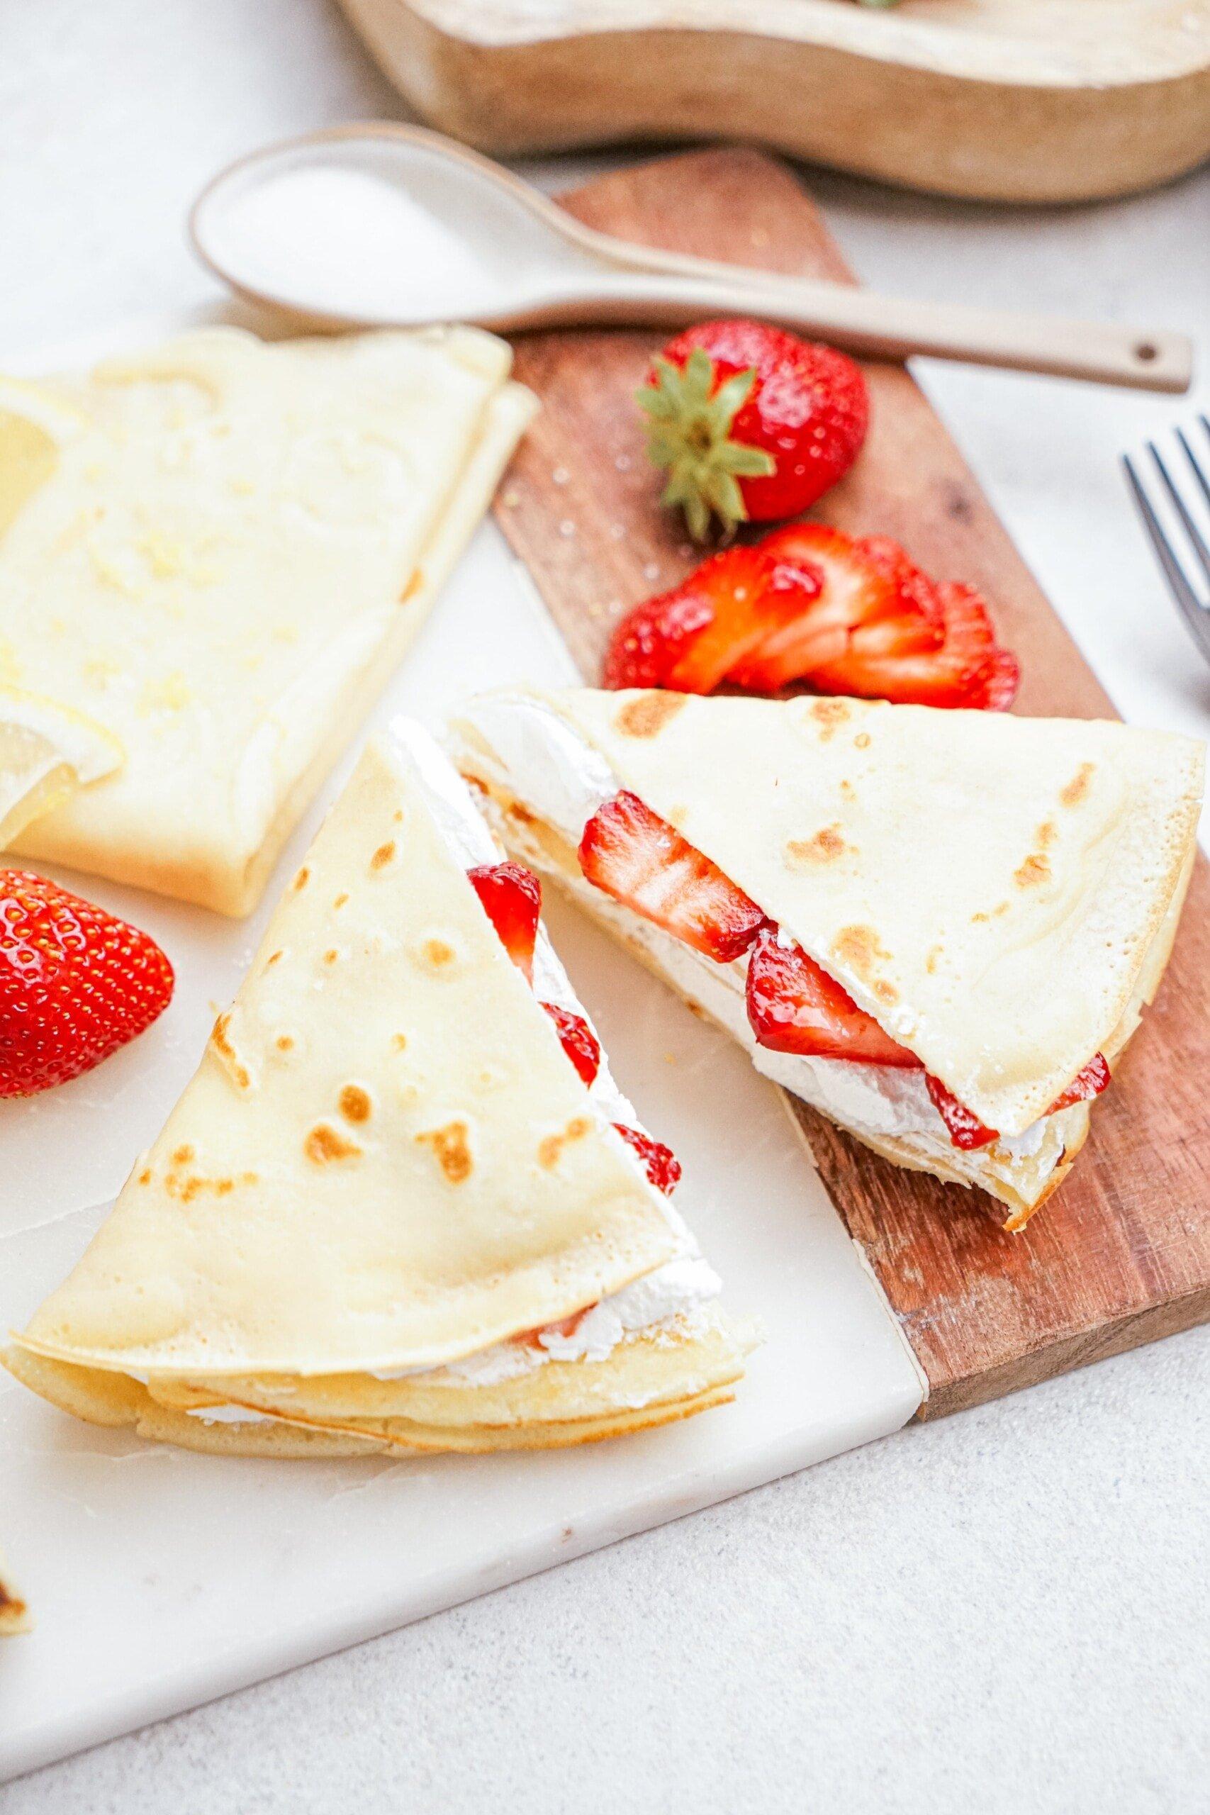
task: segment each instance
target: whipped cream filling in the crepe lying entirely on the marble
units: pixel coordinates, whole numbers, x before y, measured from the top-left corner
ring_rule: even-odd
[[[434,739],[410,719],[394,719],[390,737],[408,759],[421,784],[424,804],[457,860],[466,869],[475,869],[479,864],[499,864],[499,848],[481,819],[466,782]],[[553,1002],[557,1007],[588,1020],[541,922],[533,947],[533,995],[539,1002]],[[637,1163],[620,1134],[613,1133],[611,1123],[624,1122],[640,1131],[642,1123],[633,1104],[617,1087],[604,1049],[600,1069],[588,1094],[602,1120],[610,1123],[610,1138],[617,1142],[631,1163]],[[653,1272],[631,1280],[619,1292],[602,1298],[575,1321],[568,1334],[564,1334],[562,1325],[551,1325],[533,1332],[532,1339],[524,1343],[493,1343],[490,1349],[481,1349],[435,1369],[394,1369],[372,1372],[372,1378],[423,1378],[432,1387],[493,1387],[499,1381],[528,1374],[546,1361],[606,1361],[622,1338],[639,1330],[655,1330],[671,1323],[693,1327],[702,1309],[722,1290],[722,1281],[702,1258],[684,1218],[668,1200],[664,1200],[664,1214],[680,1252]],[[263,1421],[268,1414],[250,1412],[239,1405],[209,1405],[190,1407],[187,1416],[201,1418],[205,1423],[239,1425]]]

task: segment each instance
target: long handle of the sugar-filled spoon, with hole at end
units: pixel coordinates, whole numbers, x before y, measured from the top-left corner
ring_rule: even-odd
[[[1194,370],[1192,345],[1183,334],[878,296],[818,280],[764,281],[749,272],[715,278],[617,270],[593,281],[591,294],[568,296],[546,319],[686,327],[720,314],[778,321],[874,359],[931,354],[1170,392],[1188,390]]]

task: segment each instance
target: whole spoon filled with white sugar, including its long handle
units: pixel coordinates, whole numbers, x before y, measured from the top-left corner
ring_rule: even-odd
[[[1192,378],[1183,334],[878,296],[631,245],[490,158],[388,122],[241,158],[203,189],[189,225],[234,290],[325,327],[512,332],[744,314],[880,359],[932,354],[1174,392]]]

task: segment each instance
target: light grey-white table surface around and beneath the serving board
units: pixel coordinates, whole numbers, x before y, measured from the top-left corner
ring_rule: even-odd
[[[181,216],[218,165],[397,113],[323,0],[0,0],[0,367],[205,301]],[[813,187],[883,289],[1157,319],[1206,356],[1206,172],[1045,214]],[[1128,715],[1205,724],[1114,470],[1183,407],[925,379]],[[1199,1330],[98,1748],[0,1811],[1210,1810],[1208,1457]]]

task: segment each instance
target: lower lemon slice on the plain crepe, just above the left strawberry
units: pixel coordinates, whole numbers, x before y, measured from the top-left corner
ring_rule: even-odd
[[[122,739],[42,693],[0,686],[0,851],[76,788],[125,762]]]

